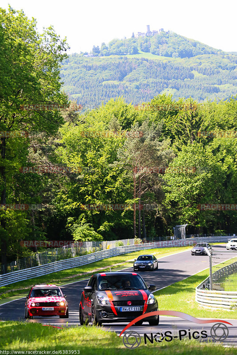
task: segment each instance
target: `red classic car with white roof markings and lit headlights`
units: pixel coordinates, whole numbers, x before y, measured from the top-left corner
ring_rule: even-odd
[[[26,296],[25,318],[33,316],[68,318],[68,302],[56,285],[35,285]]]

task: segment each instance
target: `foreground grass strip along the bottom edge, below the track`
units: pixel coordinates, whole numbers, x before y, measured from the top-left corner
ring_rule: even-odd
[[[3,322],[0,323],[0,350],[18,351],[52,351],[61,350],[61,354],[69,354],[69,350],[78,350],[86,355],[130,354],[130,349],[123,345],[122,337],[114,332],[105,332],[103,328],[82,326],[57,329],[45,327],[39,323]],[[144,344],[143,337],[140,346],[133,349],[133,354],[149,355],[179,354],[179,355],[233,355],[237,348],[225,348],[222,344],[199,343],[198,340],[173,340],[155,344]],[[64,350],[64,353],[63,353]],[[68,351],[68,353],[66,353]],[[27,353],[26,353],[27,354]],[[75,353],[74,353],[75,354]],[[76,352],[78,354],[78,352]]]

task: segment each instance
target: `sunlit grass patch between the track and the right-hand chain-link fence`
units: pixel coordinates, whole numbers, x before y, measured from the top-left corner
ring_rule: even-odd
[[[199,272],[185,280],[176,282],[154,295],[160,310],[179,311],[198,318],[237,319],[237,310],[212,310],[201,307],[195,301],[195,288],[209,276],[209,269]]]

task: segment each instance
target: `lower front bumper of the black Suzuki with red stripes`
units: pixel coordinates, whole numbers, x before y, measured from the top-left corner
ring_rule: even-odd
[[[113,323],[113,322],[130,322],[133,321],[136,317],[139,317],[142,315],[144,306],[141,307],[141,310],[138,312],[120,312],[120,307],[115,307],[115,310],[117,312],[117,315],[112,311],[112,308],[110,306],[102,306],[99,304],[95,304],[95,310],[96,310],[96,318],[98,322],[102,323]],[[154,312],[158,311],[158,303],[155,302],[154,304],[147,305],[146,312]],[[106,313],[106,315],[105,315]],[[104,316],[103,316],[104,314]],[[148,318],[144,318],[144,322],[148,322],[151,320],[156,320],[157,316],[152,316]]]

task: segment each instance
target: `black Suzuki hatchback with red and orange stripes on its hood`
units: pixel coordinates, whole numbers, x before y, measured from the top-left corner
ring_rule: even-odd
[[[93,275],[81,294],[79,320],[102,323],[130,322],[136,317],[158,311],[158,303],[144,280],[134,272],[107,272]],[[144,318],[150,326],[159,324],[159,316]]]

